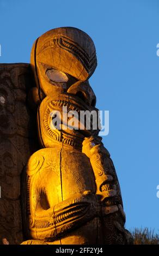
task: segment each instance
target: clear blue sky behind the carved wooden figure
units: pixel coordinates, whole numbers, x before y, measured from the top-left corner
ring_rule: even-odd
[[[1,63],[28,63],[34,40],[71,26],[95,42],[90,78],[97,107],[109,110],[103,137],[120,181],[126,228],[159,231],[159,2],[0,0]]]

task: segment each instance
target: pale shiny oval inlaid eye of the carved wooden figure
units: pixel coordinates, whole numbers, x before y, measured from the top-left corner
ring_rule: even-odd
[[[66,74],[62,71],[56,69],[49,69],[46,71],[46,76],[53,82],[63,83],[68,82],[69,78]]]

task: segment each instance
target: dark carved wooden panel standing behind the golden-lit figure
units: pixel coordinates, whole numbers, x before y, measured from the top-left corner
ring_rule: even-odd
[[[27,103],[32,85],[29,64],[0,64],[0,243],[23,241],[21,173],[37,150],[36,115]]]

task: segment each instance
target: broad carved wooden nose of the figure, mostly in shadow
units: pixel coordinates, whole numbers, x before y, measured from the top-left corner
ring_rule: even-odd
[[[83,100],[88,106],[95,107],[96,96],[88,81],[78,81],[72,84],[67,93],[74,94],[79,97],[79,99]]]

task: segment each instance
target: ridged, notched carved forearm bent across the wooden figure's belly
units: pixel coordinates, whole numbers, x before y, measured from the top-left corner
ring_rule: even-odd
[[[89,203],[78,203],[72,206],[70,205],[68,208],[64,208],[60,211],[54,212],[52,222],[45,222],[44,220],[39,220],[35,222],[34,227],[46,229],[73,222],[77,219],[79,220],[79,218],[83,217],[87,213],[89,206]]]

